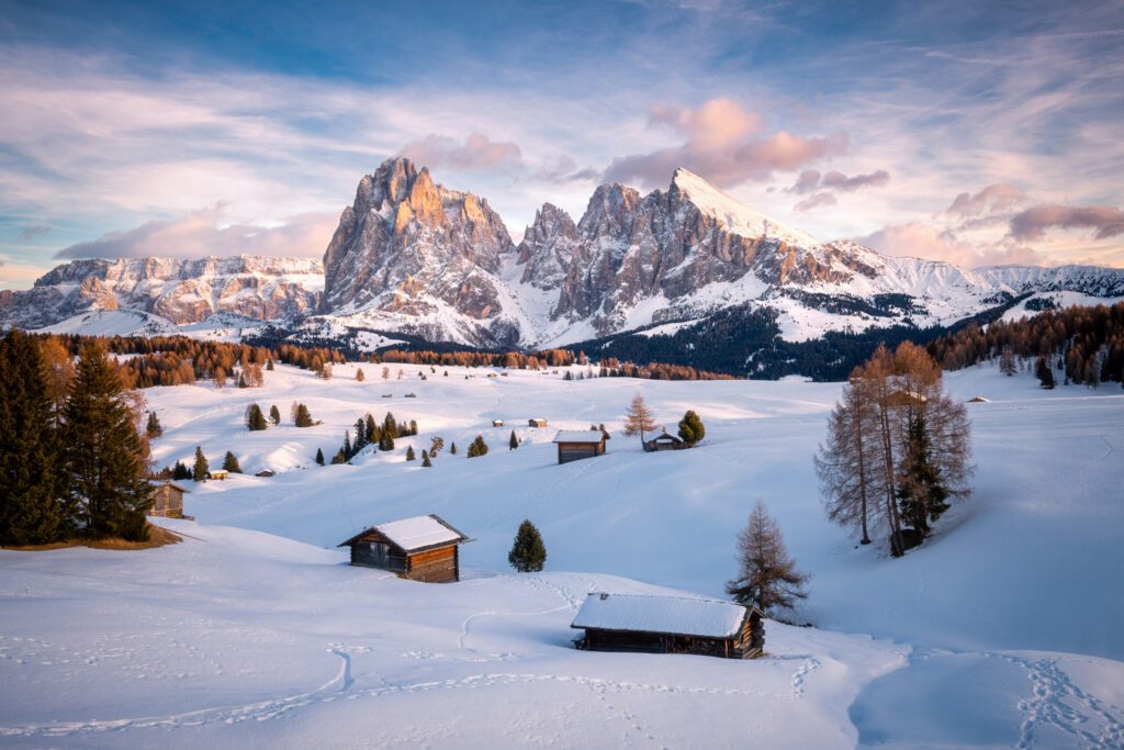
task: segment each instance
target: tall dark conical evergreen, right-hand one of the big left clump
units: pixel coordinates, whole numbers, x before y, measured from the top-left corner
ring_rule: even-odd
[[[145,446],[117,368],[97,344],[83,347],[66,404],[70,498],[97,536],[148,537],[152,485]]]

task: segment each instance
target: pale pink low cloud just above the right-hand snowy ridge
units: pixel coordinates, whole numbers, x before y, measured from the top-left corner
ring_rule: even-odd
[[[856,242],[887,255],[944,261],[967,269],[980,265],[1041,265],[1044,262],[1037,251],[1015,242],[969,243],[951,229],[921,222],[891,224],[865,237],[856,237]]]

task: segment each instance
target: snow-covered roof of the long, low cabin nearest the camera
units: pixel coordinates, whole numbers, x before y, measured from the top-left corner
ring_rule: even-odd
[[[571,627],[728,638],[745,621],[745,607],[720,599],[633,594],[590,594]]]

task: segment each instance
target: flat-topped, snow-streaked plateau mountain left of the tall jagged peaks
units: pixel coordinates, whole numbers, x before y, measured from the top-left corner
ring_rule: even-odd
[[[315,311],[323,287],[323,264],[307,257],[79,260],[28,290],[0,291],[0,323],[39,328],[98,310],[151,313],[178,325],[215,313],[282,318]]]

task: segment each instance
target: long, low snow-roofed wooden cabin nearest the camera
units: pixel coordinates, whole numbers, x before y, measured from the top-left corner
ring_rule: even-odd
[[[763,620],[756,607],[719,599],[590,594],[571,627],[586,631],[575,645],[589,651],[753,659],[764,649]]]

